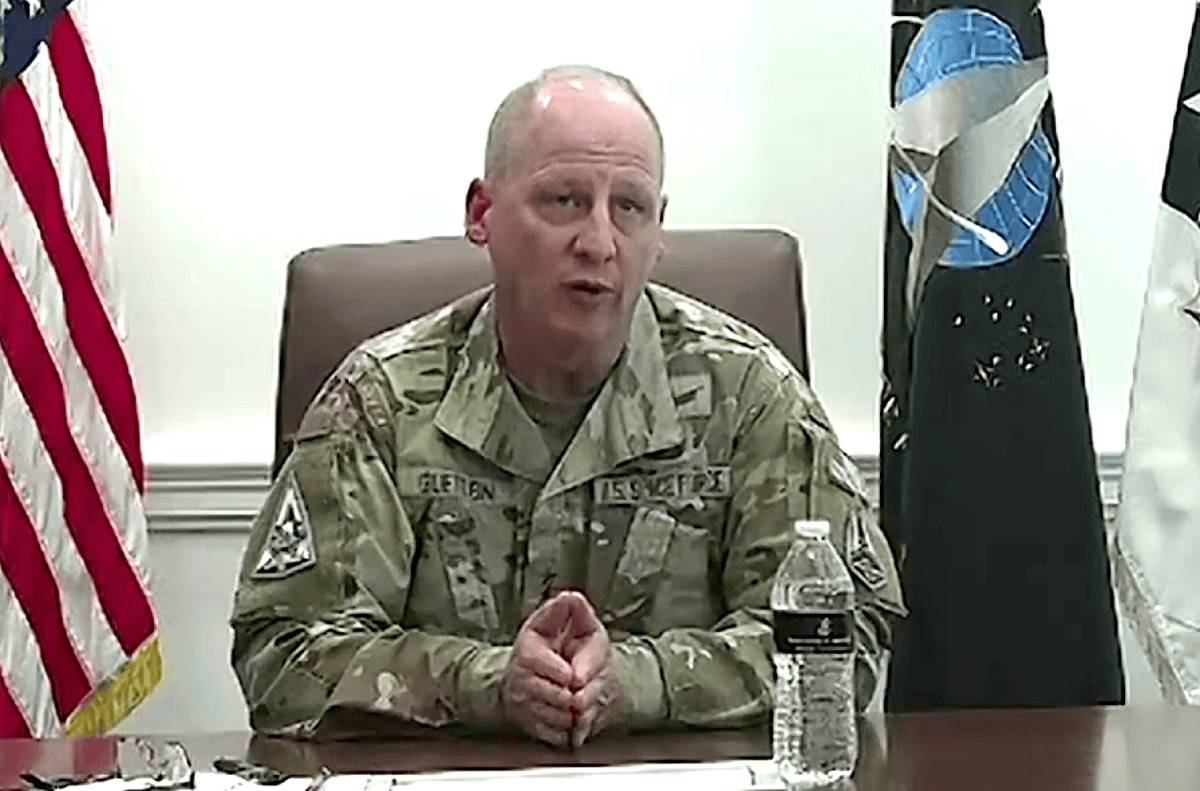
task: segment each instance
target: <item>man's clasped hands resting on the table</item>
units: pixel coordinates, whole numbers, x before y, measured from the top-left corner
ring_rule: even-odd
[[[616,719],[613,648],[582,593],[565,591],[521,625],[504,672],[505,719],[554,747],[582,747]]]

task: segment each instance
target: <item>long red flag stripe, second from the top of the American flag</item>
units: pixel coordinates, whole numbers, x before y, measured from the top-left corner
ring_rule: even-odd
[[[142,439],[133,379],[120,342],[100,300],[59,192],[58,175],[42,139],[37,110],[20,82],[0,91],[0,150],[37,220],[42,244],[62,287],[67,328],[108,417],[130,472],[144,493]]]

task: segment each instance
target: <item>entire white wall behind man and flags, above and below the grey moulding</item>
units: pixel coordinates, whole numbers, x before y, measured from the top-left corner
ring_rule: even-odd
[[[800,238],[815,385],[848,450],[876,453],[887,0],[217,5],[90,6],[151,465],[266,462],[288,258],[457,233],[496,103],[581,61],[655,107],[670,226]],[[1043,7],[1097,449],[1118,451],[1194,1]],[[128,727],[245,723],[223,625],[239,547],[152,540],[170,677]]]

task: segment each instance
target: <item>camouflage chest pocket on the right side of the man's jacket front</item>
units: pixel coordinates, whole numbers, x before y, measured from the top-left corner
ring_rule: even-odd
[[[638,507],[613,571],[605,621],[648,634],[712,625],[709,557],[707,529],[680,522],[664,507]]]

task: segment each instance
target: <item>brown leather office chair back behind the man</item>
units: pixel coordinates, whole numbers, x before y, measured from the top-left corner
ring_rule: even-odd
[[[653,278],[749,324],[809,373],[799,246],[782,230],[672,230]],[[322,383],[355,346],[491,280],[463,239],[338,245],[288,264],[275,403],[275,462]]]

